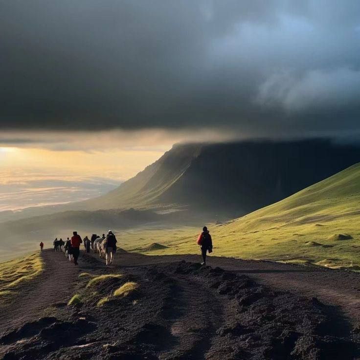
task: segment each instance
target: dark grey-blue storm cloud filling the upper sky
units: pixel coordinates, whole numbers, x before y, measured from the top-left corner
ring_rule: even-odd
[[[0,1],[2,129],[359,129],[360,2]]]

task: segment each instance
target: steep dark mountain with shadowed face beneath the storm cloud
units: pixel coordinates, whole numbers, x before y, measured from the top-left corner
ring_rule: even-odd
[[[360,161],[360,147],[328,140],[176,145],[87,208],[183,204],[242,215]]]

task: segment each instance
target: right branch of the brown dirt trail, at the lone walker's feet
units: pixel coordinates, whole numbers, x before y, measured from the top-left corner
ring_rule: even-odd
[[[121,251],[116,254],[114,266],[144,266],[181,260],[200,262],[201,257],[200,255],[147,256]],[[360,273],[217,256],[209,256],[207,264],[248,275],[276,290],[317,297],[329,305],[340,306],[353,323],[360,322]]]

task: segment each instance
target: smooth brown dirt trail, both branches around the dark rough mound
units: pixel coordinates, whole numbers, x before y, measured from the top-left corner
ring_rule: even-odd
[[[21,296],[16,304],[1,309],[0,334],[10,327],[36,318],[37,314],[52,304],[66,302],[74,293],[77,276],[82,270],[103,268],[103,260],[95,254],[94,264],[81,260],[74,269],[62,253],[45,250],[42,257],[45,270],[31,286],[19,289]],[[199,262],[197,255],[160,255],[146,256],[137,253],[118,251],[112,267],[139,267],[154,264],[178,262],[181,260]],[[271,286],[276,290],[292,291],[307,297],[317,297],[329,305],[340,306],[353,323],[360,322],[360,274],[343,270],[329,270],[319,267],[302,267],[269,261],[251,261],[211,256],[208,265],[221,267],[248,275],[257,282]]]

